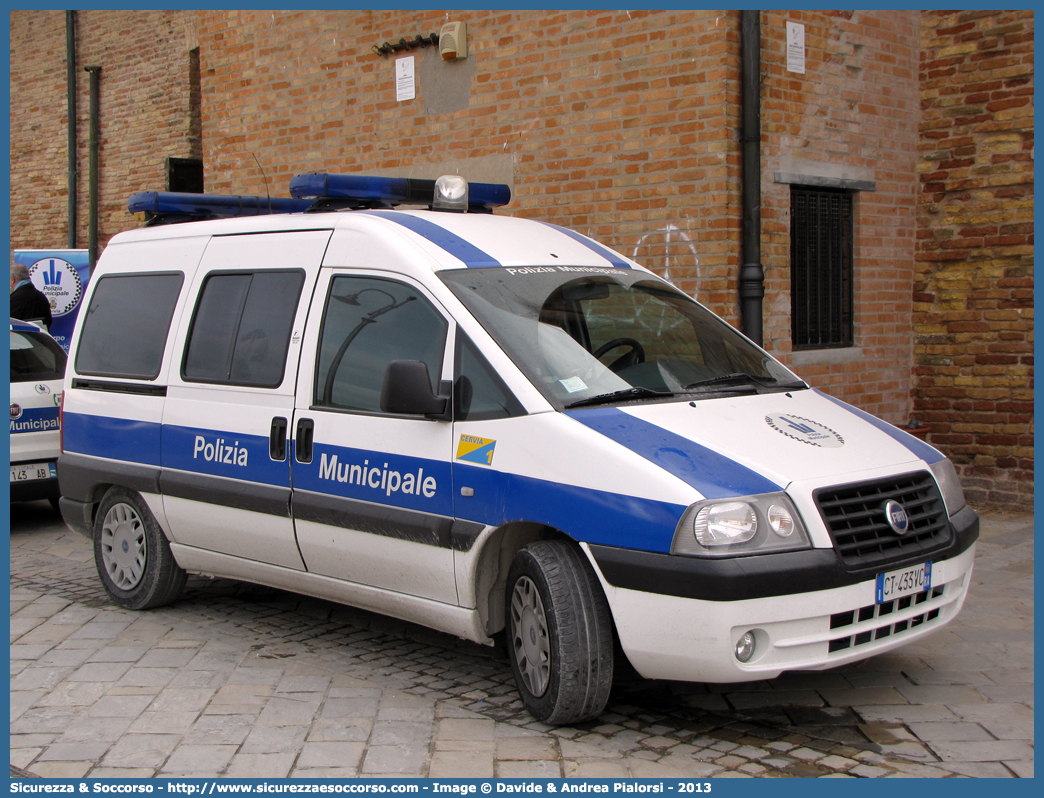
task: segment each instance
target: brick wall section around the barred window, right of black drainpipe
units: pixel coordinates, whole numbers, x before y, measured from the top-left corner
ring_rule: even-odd
[[[805,73],[786,69],[786,22],[805,26]],[[763,11],[765,344],[817,388],[893,423],[909,419],[914,361],[918,15]],[[790,352],[790,184],[856,181],[855,338]],[[800,182],[800,181],[798,181]],[[845,183],[843,185],[852,185]]]

